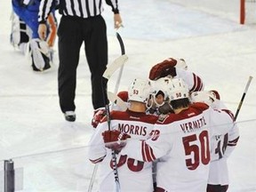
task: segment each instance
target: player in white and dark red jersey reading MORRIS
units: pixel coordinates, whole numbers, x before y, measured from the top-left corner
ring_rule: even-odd
[[[89,158],[93,164],[100,164],[100,192],[115,191],[115,178],[111,162],[111,144],[105,148],[104,141],[112,140],[115,132],[129,134],[132,139],[145,140],[149,137],[157,116],[146,114],[146,103],[150,92],[150,82],[143,79],[134,79],[128,89],[129,108],[126,111],[111,111],[111,131],[108,134],[108,122],[106,117],[95,129],[90,140]],[[105,140],[102,139],[102,132]],[[114,134],[112,134],[114,132]],[[114,144],[115,145],[115,144]],[[122,144],[121,144],[122,145]],[[152,192],[152,163],[137,161],[130,156],[116,154],[117,170],[122,192],[140,191]]]

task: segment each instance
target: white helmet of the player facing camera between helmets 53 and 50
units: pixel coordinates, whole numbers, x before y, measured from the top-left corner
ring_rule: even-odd
[[[164,101],[167,101],[170,99],[169,98],[169,89],[170,89],[171,79],[172,79],[172,77],[165,76],[165,77],[159,78],[156,81],[154,81],[154,83],[152,85],[151,92],[152,92],[153,98],[154,98],[157,106],[163,105]],[[156,101],[156,96],[159,93],[162,94],[164,97],[163,103],[157,103],[157,101]]]

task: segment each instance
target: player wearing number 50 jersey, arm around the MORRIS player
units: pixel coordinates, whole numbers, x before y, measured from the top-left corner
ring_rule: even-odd
[[[159,118],[148,140],[129,139],[126,146],[115,143],[116,146],[110,147],[123,148],[120,155],[139,161],[158,159],[156,192],[203,192],[211,160],[210,139],[232,129],[233,119],[228,111],[213,110],[204,103],[191,104],[187,84],[180,78],[173,78],[171,82],[168,96],[174,114]],[[103,133],[104,140],[107,133],[109,131]],[[123,140],[122,131],[113,134],[118,136],[108,141]]]

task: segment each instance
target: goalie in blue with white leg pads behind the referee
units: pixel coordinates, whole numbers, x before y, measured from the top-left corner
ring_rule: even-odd
[[[57,33],[57,21],[54,11],[57,3],[52,3],[52,12],[47,20],[47,40],[39,39],[37,29],[38,12],[40,0],[12,0],[12,34],[11,43],[20,47],[22,52],[26,51],[25,44],[29,44],[29,53],[31,54],[31,65],[35,71],[44,71],[51,68],[52,65],[52,46]]]

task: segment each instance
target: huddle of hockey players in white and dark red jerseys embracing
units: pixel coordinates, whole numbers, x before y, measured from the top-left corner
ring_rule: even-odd
[[[99,191],[115,191],[116,170],[122,192],[225,192],[227,158],[239,132],[219,92],[204,91],[203,80],[185,60],[169,58],[136,78],[106,115],[95,113],[89,159],[100,164]]]

